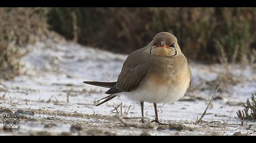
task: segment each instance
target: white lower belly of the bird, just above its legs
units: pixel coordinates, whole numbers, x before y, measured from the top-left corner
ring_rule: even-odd
[[[136,90],[123,92],[123,94],[135,101],[173,103],[185,95],[189,84],[189,78],[175,83],[169,81],[164,84],[148,80],[142,83]]]

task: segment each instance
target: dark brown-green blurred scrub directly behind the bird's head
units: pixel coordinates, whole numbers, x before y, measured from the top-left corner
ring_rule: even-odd
[[[218,41],[228,62],[247,62],[256,47],[255,13],[256,8],[52,8],[49,24],[68,39],[118,53],[131,53],[165,31],[177,36],[190,59],[218,61]]]

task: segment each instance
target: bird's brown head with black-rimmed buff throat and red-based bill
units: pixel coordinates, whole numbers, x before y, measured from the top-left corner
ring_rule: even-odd
[[[155,56],[176,56],[180,52],[177,38],[168,32],[158,33],[151,42],[149,52]]]

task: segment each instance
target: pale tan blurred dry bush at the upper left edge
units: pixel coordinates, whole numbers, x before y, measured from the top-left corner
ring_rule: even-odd
[[[24,45],[48,34],[48,8],[0,8],[0,78],[20,73]]]

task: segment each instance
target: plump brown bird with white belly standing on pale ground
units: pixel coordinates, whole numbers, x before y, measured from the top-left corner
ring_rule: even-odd
[[[124,95],[140,102],[141,122],[144,122],[144,102],[153,103],[155,119],[158,119],[157,104],[174,103],[191,87],[191,68],[180,50],[176,36],[160,32],[151,42],[127,56],[121,73],[115,82],[84,81],[85,84],[109,88],[105,98],[96,106],[116,96]]]

